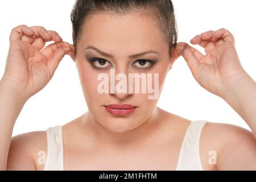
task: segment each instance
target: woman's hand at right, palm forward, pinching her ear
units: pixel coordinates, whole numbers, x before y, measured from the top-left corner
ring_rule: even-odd
[[[207,31],[191,39],[205,49],[203,55],[197,49],[185,45],[182,56],[187,61],[193,77],[203,88],[224,97],[229,88],[246,75],[235,48],[233,35],[224,28]]]

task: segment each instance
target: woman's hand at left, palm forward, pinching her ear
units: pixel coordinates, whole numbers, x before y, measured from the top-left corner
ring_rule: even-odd
[[[51,40],[55,43],[44,48]],[[55,31],[39,26],[15,27],[10,34],[10,48],[1,82],[26,102],[48,84],[66,54],[73,58],[73,51],[73,45],[63,42]]]

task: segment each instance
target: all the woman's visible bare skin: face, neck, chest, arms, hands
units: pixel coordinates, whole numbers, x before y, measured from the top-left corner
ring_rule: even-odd
[[[187,43],[178,43],[169,53],[167,40],[160,28],[155,27],[159,26],[154,18],[138,13],[93,15],[84,22],[76,57],[73,45],[64,46],[56,32],[52,31],[47,38],[49,31],[43,27],[14,28],[6,70],[0,81],[1,169],[43,170],[44,165],[38,163],[38,151],[47,151],[46,132],[35,131],[13,138],[11,133],[24,103],[46,86],[65,54],[75,61],[88,111],[63,126],[64,169],[174,170],[191,121],[156,107],[158,100],[148,100],[147,94],[99,94],[97,75],[110,71],[93,68],[88,59],[108,60],[116,74],[159,73],[160,93],[168,71],[181,55],[196,81],[228,102],[253,131],[225,123],[207,123],[200,138],[203,168],[256,169],[256,115],[248,109],[256,107],[256,83],[240,64],[233,35],[224,28],[197,35],[191,43],[204,47],[206,55]],[[32,38],[34,34],[38,36]],[[32,43],[33,39],[37,41]],[[55,43],[39,52],[51,40]],[[113,58],[92,49],[84,51],[89,45],[112,54]],[[156,64],[151,69],[132,67],[138,59],[127,57],[148,49],[158,51],[159,55],[150,53],[138,59],[156,60]],[[129,117],[113,117],[106,113],[104,105],[114,103],[138,108]],[[209,164],[209,151],[216,151],[217,164]]]

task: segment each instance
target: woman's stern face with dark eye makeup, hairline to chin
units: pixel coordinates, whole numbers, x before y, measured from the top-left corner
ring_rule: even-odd
[[[102,55],[95,49],[88,48],[89,46],[112,56]],[[148,96],[152,96],[153,93],[149,93],[147,87],[146,93],[142,93],[142,80],[139,85],[135,81],[132,84],[129,82],[128,74],[150,75],[151,73],[152,79],[146,79],[146,82],[150,81],[152,89],[155,89],[155,92],[159,90],[160,94],[172,64],[168,48],[168,41],[160,31],[158,22],[151,16],[138,13],[127,15],[100,13],[86,19],[77,43],[75,61],[86,104],[92,117],[114,133],[133,130],[150,118],[155,112],[158,97],[149,99]],[[148,50],[158,53],[129,57]],[[95,58],[98,59],[95,61]],[[91,62],[92,60],[94,62]],[[139,93],[135,93],[134,90],[133,93],[118,93],[116,90],[115,93],[110,93],[110,80],[115,79],[115,77],[111,78],[110,69],[114,69],[115,76],[124,73],[127,76],[127,88],[139,86]],[[154,73],[158,74],[156,80]],[[103,81],[97,79],[100,75],[108,76],[109,93],[99,91],[98,86]],[[114,86],[120,81],[115,80]],[[122,81],[121,83],[125,83]],[[130,104],[137,107],[133,113],[116,115],[105,109],[105,106],[110,104]]]

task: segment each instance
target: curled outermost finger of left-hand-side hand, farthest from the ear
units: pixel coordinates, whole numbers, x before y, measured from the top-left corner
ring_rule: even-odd
[[[34,34],[35,32],[31,28],[23,24],[11,30],[9,40],[10,42],[14,42],[15,40],[20,40],[22,35],[33,36]]]

